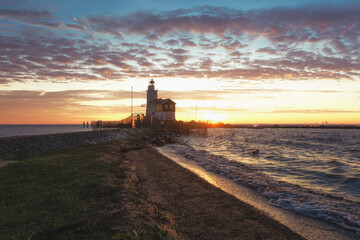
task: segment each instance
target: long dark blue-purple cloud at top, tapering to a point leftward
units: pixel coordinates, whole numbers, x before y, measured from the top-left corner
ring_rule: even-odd
[[[95,31],[117,34],[155,34],[188,32],[198,34],[261,35],[274,42],[314,42],[346,38],[359,30],[359,4],[307,5],[296,8],[234,10],[210,6],[163,13],[138,12],[125,16],[97,16],[80,20]],[[186,44],[186,43],[185,43]],[[196,43],[191,43],[194,46]]]

